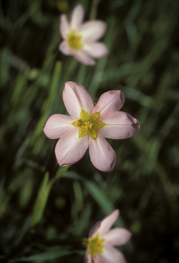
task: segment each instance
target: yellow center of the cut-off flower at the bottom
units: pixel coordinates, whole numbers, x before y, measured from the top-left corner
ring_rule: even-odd
[[[92,254],[96,257],[96,253],[103,253],[104,248],[104,238],[99,238],[99,234],[92,236],[91,238],[84,238],[82,244],[84,247],[88,246],[88,254]]]

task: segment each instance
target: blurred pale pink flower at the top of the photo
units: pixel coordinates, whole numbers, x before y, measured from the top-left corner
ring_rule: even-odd
[[[108,53],[106,45],[97,42],[106,32],[106,23],[100,20],[82,23],[83,18],[84,8],[80,4],[73,9],[70,23],[66,14],[60,16],[60,33],[63,41],[59,49],[64,55],[73,55],[83,64],[94,65],[93,58],[102,58]]]

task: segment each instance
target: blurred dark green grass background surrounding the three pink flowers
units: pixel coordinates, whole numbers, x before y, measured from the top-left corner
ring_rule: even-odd
[[[119,247],[128,263],[177,263],[179,1],[99,1],[110,52],[95,66],[58,51],[59,16],[77,3],[88,20],[91,0],[1,1],[0,262],[83,262],[82,238],[118,208],[116,226],[132,231]],[[56,162],[43,126],[66,113],[66,81],[93,101],[122,90],[122,111],[140,121],[132,138],[108,140],[117,154],[109,173],[88,151],[69,168]]]

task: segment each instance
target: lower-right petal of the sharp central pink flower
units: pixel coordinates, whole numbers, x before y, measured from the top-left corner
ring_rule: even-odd
[[[115,166],[116,154],[107,140],[97,133],[97,139],[89,138],[89,153],[92,164],[103,172],[109,172]]]

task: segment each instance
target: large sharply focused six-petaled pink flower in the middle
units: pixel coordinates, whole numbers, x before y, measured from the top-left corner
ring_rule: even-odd
[[[60,166],[79,161],[89,147],[91,162],[101,171],[115,166],[115,151],[105,140],[126,139],[139,131],[139,121],[119,112],[124,103],[121,90],[105,92],[94,106],[86,89],[75,82],[65,82],[64,105],[70,116],[52,115],[44,127],[50,139],[58,140],[55,153]]]

